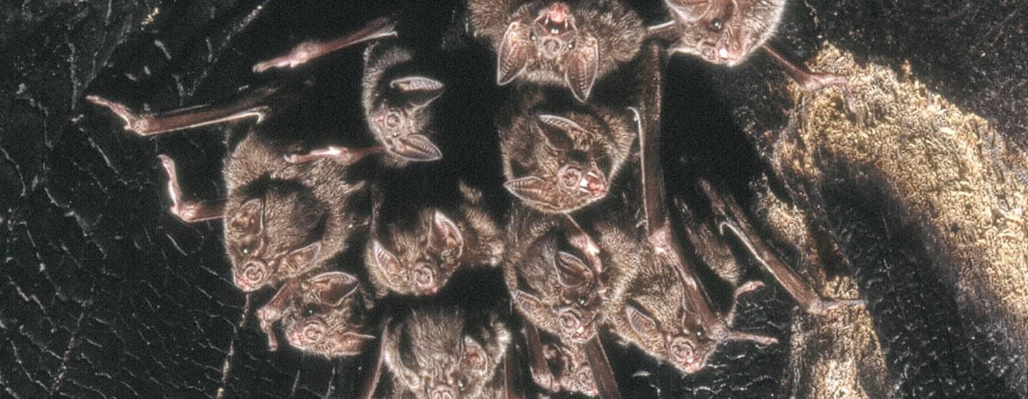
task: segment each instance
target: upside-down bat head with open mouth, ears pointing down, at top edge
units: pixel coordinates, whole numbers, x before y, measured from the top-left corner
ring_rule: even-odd
[[[530,21],[512,22],[497,50],[497,83],[504,85],[525,71],[561,76],[580,102],[589,98],[599,65],[596,38],[578,28],[566,3],[552,2]]]

